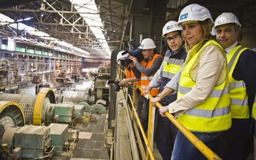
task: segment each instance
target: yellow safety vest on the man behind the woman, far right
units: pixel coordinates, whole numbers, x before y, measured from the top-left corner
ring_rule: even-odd
[[[236,81],[232,76],[237,60],[245,49],[247,48],[239,45],[234,47],[227,55],[232,118],[249,118],[248,97],[245,83],[244,81]]]

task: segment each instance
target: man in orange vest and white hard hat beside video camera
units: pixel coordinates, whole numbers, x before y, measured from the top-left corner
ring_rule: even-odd
[[[139,46],[139,49],[142,49],[142,55],[144,60],[138,62],[137,58],[134,56],[129,56],[130,60],[134,62],[135,67],[141,73],[140,86],[142,89],[148,89],[148,84],[151,79],[153,79],[154,74],[160,68],[161,63],[163,62],[163,57],[160,54],[156,54],[154,49],[156,48],[155,42],[150,38],[145,38],[142,40],[142,43]],[[151,89],[150,94],[152,96],[158,95],[159,87]],[[141,92],[143,95],[143,92]],[[140,116],[140,121],[142,122],[142,127],[144,131],[147,131],[148,128],[148,106],[149,100],[144,98],[142,114]]]

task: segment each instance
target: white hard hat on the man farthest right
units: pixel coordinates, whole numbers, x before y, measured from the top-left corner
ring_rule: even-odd
[[[219,15],[215,20],[214,27],[216,28],[216,26],[220,26],[228,23],[235,23],[238,26],[238,28],[242,27],[236,15],[234,15],[231,12],[228,12],[228,13],[223,12],[221,15]]]

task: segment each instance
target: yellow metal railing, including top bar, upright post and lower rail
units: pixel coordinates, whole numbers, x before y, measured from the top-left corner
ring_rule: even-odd
[[[136,86],[134,87],[136,89],[139,89],[140,91],[143,92],[144,89],[142,89],[140,86]],[[134,96],[135,97],[135,96]],[[153,96],[152,95],[148,95],[148,98],[153,99]],[[134,100],[133,100],[134,101]],[[161,108],[162,105],[159,103],[159,102],[156,102],[155,104],[158,108]],[[151,106],[151,102],[150,102],[150,106]],[[152,108],[152,107],[151,107]],[[152,111],[151,111],[151,108],[149,108],[149,114],[148,114],[148,144],[150,144],[150,129],[151,129],[151,116],[152,116]],[[137,114],[135,112],[135,108],[133,106],[133,110],[134,110],[134,113]],[[151,114],[150,114],[151,113]],[[172,114],[168,113],[168,111],[166,111],[166,113],[164,113],[164,115],[171,121],[173,122],[173,124],[177,127],[177,129],[179,129],[179,131],[182,132],[182,134],[185,135],[185,137],[187,137],[187,139],[192,143],[192,145],[194,145],[207,159],[213,159],[213,160],[217,160],[217,159],[221,159],[218,155],[216,155],[213,151],[210,150],[210,148],[208,148],[202,141],[200,141],[197,137],[195,137],[194,134],[192,134],[188,129],[186,129],[186,127],[184,127],[180,122],[178,122]],[[142,127],[141,124],[140,125],[140,128]],[[143,129],[142,129],[143,130]],[[146,137],[145,136],[145,132],[143,132],[143,138],[145,140]],[[146,141],[145,141],[146,142]],[[147,148],[148,148],[148,144],[146,143],[147,145]],[[150,148],[150,147],[149,147]],[[148,152],[149,152],[149,155],[150,155],[150,158],[151,158],[151,154],[153,153],[150,153],[151,151],[151,148],[150,150],[148,149]],[[147,152],[147,153],[148,153]],[[147,154],[148,155],[148,154]],[[148,156],[147,156],[147,159],[148,159]],[[151,158],[152,159],[152,158]]]

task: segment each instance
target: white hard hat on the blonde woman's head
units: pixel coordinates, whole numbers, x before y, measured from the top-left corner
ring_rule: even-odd
[[[179,25],[182,22],[187,21],[204,21],[210,20],[210,24],[213,25],[213,19],[211,18],[211,14],[209,10],[203,6],[198,4],[190,4],[181,10],[181,14],[179,14]]]

